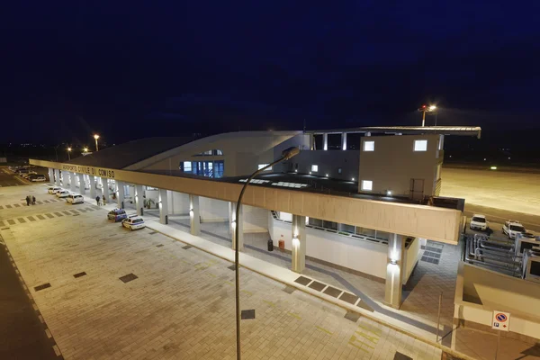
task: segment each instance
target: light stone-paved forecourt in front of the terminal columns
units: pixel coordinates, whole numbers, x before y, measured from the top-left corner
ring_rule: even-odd
[[[18,190],[20,200],[25,193]],[[14,203],[9,197],[0,204]],[[32,216],[37,207],[2,210],[0,220]],[[40,205],[39,213],[62,208],[79,209],[53,202]],[[149,229],[122,229],[105,220],[105,211],[79,215],[2,230],[65,358],[236,357],[234,272],[228,262],[150,235]],[[138,278],[120,280],[130,274]],[[240,282],[242,310],[256,313],[254,320],[242,320],[246,359],[393,359],[396,352],[441,357],[436,347],[364,317],[348,320],[338,306],[300,291],[285,293],[283,284],[262,275],[240,269]],[[49,288],[34,290],[47,283]]]

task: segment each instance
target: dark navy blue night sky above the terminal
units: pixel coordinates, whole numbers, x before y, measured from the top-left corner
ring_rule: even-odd
[[[539,127],[540,1],[9,3],[0,142]]]

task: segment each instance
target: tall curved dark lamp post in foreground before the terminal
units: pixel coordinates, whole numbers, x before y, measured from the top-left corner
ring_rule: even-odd
[[[236,217],[235,217],[235,231],[234,231],[234,243],[235,243],[235,247],[234,247],[234,268],[235,268],[235,272],[236,272],[236,276],[235,276],[235,289],[236,289],[236,293],[235,293],[235,298],[236,298],[236,317],[237,317],[237,360],[240,360],[241,358],[241,352],[240,352],[240,284],[239,284],[239,269],[238,269],[238,257],[239,257],[239,254],[238,254],[238,227],[239,227],[239,221],[241,221],[241,219],[239,218],[240,217],[240,206],[242,205],[242,197],[244,197],[244,192],[246,191],[246,188],[247,188],[247,184],[249,184],[249,182],[251,182],[251,180],[259,175],[260,173],[262,173],[263,171],[265,171],[267,168],[269,167],[272,167],[272,166],[275,166],[276,164],[278,163],[281,163],[282,161],[284,160],[288,160],[290,159],[291,157],[294,157],[296,155],[298,155],[300,153],[300,149],[299,148],[286,148],[284,149],[283,153],[282,153],[282,157],[278,158],[277,160],[275,160],[272,164],[268,164],[264,167],[261,167],[260,169],[258,169],[255,173],[251,174],[249,176],[249,178],[247,178],[247,182],[246,184],[244,184],[244,186],[242,186],[242,190],[240,191],[240,195],[238,196],[238,202],[237,202],[237,208],[236,208]]]

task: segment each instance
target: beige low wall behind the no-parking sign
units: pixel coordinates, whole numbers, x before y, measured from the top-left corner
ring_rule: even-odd
[[[455,324],[472,323],[474,328],[491,331],[493,311],[511,314],[510,331],[502,332],[501,336],[540,339],[538,284],[460,263],[455,288]]]

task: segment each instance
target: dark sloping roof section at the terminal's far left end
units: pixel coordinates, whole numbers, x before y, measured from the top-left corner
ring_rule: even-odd
[[[184,145],[192,138],[147,138],[126,142],[111,148],[103,148],[84,157],[76,157],[68,164],[82,166],[101,166],[122,169],[148,157],[153,157],[170,148]]]

